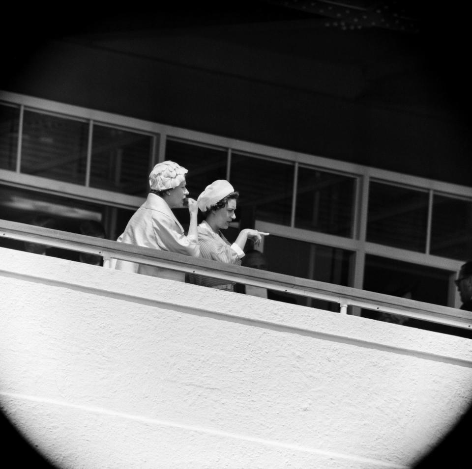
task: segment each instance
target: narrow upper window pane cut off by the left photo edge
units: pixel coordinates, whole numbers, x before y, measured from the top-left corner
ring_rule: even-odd
[[[0,105],[0,168],[16,169],[20,109]]]

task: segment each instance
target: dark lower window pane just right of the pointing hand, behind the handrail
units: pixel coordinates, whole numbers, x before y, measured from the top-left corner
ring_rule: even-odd
[[[268,270],[348,286],[352,252],[280,236],[264,238]],[[298,304],[339,311],[338,303],[293,295]]]

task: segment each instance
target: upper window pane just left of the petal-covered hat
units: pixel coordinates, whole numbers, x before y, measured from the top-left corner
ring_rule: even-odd
[[[149,191],[152,137],[94,124],[90,186],[125,194]]]

